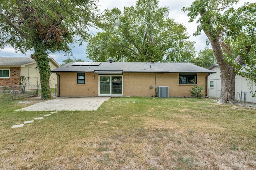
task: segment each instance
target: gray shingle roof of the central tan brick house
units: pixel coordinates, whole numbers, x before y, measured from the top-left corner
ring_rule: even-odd
[[[196,66],[191,63],[122,63],[101,62],[95,65],[65,64],[52,70],[52,72],[98,72],[98,71],[122,71],[122,72],[173,72],[173,73],[215,73],[212,70]]]

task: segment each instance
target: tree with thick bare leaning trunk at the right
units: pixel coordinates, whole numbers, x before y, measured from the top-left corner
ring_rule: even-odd
[[[196,33],[203,30],[212,45],[220,66],[221,94],[218,103],[237,102],[235,99],[235,76],[244,61],[255,81],[256,51],[256,3],[246,3],[235,9],[238,0],[195,0],[188,8],[190,22],[197,19]],[[232,51],[234,49],[235,51]],[[254,68],[254,73],[252,68]]]

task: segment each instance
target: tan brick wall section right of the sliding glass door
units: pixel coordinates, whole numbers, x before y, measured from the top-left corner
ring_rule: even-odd
[[[204,85],[206,76],[206,73],[197,74],[196,85]],[[178,73],[124,73],[123,79],[124,96],[154,96],[155,86],[169,86],[169,97],[191,96],[189,90],[195,85],[179,84]]]

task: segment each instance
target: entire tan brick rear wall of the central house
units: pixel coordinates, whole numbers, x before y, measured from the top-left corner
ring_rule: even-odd
[[[76,83],[77,73],[58,74],[60,74],[60,96],[98,96],[98,74],[85,73],[85,84]],[[196,85],[204,85],[206,76],[206,73],[197,74]],[[178,73],[123,74],[123,96],[155,96],[155,86],[169,86],[169,97],[183,97],[191,96],[189,90],[194,84],[179,84]]]

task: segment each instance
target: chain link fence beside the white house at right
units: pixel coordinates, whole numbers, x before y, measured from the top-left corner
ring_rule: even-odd
[[[236,92],[236,100],[247,103],[247,104],[256,104],[256,97],[253,97],[253,92]],[[208,88],[208,96],[209,97],[220,97],[220,90],[214,90]]]

